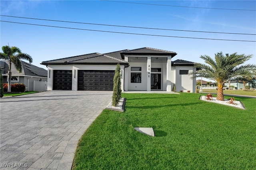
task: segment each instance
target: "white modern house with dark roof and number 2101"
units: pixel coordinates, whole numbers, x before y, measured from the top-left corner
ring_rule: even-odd
[[[90,53],[42,61],[48,67],[48,90],[113,90],[116,64],[122,91],[195,91],[194,63],[171,61],[177,53],[149,47],[111,53]]]

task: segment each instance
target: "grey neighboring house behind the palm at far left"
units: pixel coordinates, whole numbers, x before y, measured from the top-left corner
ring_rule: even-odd
[[[22,63],[22,72],[19,73],[18,70],[15,68],[14,64],[12,63],[12,80],[11,84],[14,83],[22,83],[26,86],[26,91],[43,91],[46,90],[46,85],[44,88],[39,88],[40,85],[36,84],[34,81],[47,81],[47,70],[36,67],[30,63],[26,63],[25,61],[21,61]],[[9,62],[6,60],[0,61],[0,68],[3,75],[3,83],[8,83],[8,67]],[[42,84],[42,83],[40,83]],[[46,84],[46,83],[45,83]],[[36,90],[35,90],[36,89]]]

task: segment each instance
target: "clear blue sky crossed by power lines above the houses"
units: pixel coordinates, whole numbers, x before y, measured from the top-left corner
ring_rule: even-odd
[[[45,65],[40,64],[42,61],[94,52],[108,53],[141,47],[174,51],[178,54],[172,59],[173,61],[176,59],[183,59],[197,63],[204,63],[204,61],[200,59],[200,55],[209,55],[214,58],[215,53],[220,51],[224,54],[235,52],[246,55],[252,54],[252,59],[246,63],[256,64],[255,0],[1,0],[0,14],[5,15],[0,16],[0,46],[9,45],[20,48],[23,53],[31,55],[33,58],[33,65],[44,69],[47,68]],[[68,22],[54,22],[47,20]],[[114,27],[95,24],[161,28],[169,30]],[[245,42],[226,40],[243,40]]]

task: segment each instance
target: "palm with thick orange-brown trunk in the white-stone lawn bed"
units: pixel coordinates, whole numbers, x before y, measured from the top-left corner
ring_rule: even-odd
[[[218,86],[217,100],[224,101],[223,84],[226,81],[234,80],[238,77],[244,77],[248,75],[250,71],[256,70],[256,65],[246,64],[241,65],[245,61],[248,61],[252,57],[245,54],[226,54],[222,52],[215,54],[215,61],[208,55],[201,55],[200,58],[204,59],[206,64],[196,63],[195,67],[200,68],[198,71],[194,71],[193,78],[205,77],[216,81]]]

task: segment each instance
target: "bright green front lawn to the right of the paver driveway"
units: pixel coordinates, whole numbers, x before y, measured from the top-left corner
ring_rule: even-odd
[[[200,95],[123,93],[125,112],[100,114],[80,139],[72,169],[256,169],[255,99],[235,97],[242,110]],[[155,137],[134,127],[152,127]]]

